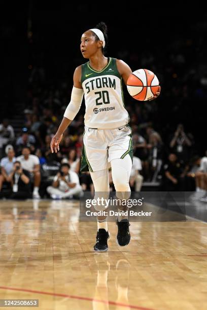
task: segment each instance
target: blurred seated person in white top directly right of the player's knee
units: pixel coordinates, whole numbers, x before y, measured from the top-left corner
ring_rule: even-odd
[[[142,170],[142,162],[141,160],[133,156],[133,163],[131,167],[131,173],[129,177],[129,185],[131,190],[140,191],[143,184],[143,176],[140,174]]]

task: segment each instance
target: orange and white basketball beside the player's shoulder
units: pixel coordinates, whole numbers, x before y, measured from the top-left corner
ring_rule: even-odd
[[[133,71],[127,80],[127,90],[136,100],[147,101],[158,91],[159,81],[155,73],[148,69]]]

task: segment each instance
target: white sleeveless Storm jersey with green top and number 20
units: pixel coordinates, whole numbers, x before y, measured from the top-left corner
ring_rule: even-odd
[[[83,64],[81,83],[86,105],[86,126],[114,129],[129,123],[123,101],[122,78],[115,58],[109,58],[107,66],[100,72],[91,68],[89,62]]]

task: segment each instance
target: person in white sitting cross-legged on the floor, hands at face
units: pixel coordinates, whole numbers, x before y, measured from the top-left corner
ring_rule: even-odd
[[[77,173],[70,171],[70,165],[64,163],[54,177],[52,186],[47,187],[47,192],[52,199],[73,198],[82,194],[83,190]]]

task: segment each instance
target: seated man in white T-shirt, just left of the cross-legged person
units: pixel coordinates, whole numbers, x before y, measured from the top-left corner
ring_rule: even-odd
[[[40,174],[40,161],[35,155],[30,154],[30,148],[24,147],[22,149],[22,155],[17,158],[17,161],[21,163],[24,170],[30,173],[31,180],[34,181],[33,198],[40,198],[39,187],[41,182]]]

